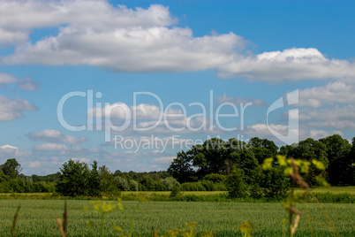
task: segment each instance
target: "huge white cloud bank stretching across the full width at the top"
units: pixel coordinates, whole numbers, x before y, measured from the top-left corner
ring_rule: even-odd
[[[244,53],[237,34],[194,37],[174,27],[168,7],[128,9],[106,1],[4,1],[0,6],[0,44],[15,45],[3,65],[94,65],[117,72],[184,72],[215,69],[222,77],[252,80],[304,80],[355,75],[346,60],[327,58],[317,49],[294,48]],[[59,33],[28,42],[35,28]]]

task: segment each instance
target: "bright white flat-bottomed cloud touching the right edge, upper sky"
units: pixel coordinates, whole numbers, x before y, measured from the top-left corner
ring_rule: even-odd
[[[329,59],[317,49],[293,48],[254,56],[235,56],[220,67],[223,77],[242,76],[253,80],[340,79],[355,76],[355,65]]]

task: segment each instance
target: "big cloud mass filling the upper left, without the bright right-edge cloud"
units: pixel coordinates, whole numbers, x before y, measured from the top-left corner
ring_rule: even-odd
[[[245,43],[232,33],[193,37],[187,27],[172,27],[177,20],[162,5],[132,10],[105,1],[27,1],[4,4],[0,12],[7,19],[0,27],[15,33],[62,26],[57,36],[19,44],[14,54],[3,57],[5,65],[85,64],[117,72],[204,70],[228,62],[230,52]],[[29,22],[23,23],[25,19]]]

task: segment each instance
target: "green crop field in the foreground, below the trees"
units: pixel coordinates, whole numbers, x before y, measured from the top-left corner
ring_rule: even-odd
[[[1,200],[0,236],[10,235],[12,218],[19,203],[22,208],[19,211],[18,236],[59,236],[56,218],[63,215],[62,200]],[[128,232],[137,203],[122,202],[125,210],[115,210],[107,214],[107,236],[114,236],[114,225]],[[68,201],[68,236],[90,236],[86,220],[94,221],[95,227],[99,228],[100,215],[92,210],[84,211],[83,207],[87,205],[89,201]],[[336,226],[339,236],[355,235],[354,204],[326,203],[321,204],[321,207],[329,216],[332,225]],[[299,209],[304,215],[295,236],[312,236],[307,219],[312,225],[313,236],[335,236],[318,204],[303,204]],[[162,234],[184,226],[185,222],[196,221],[198,233],[208,230],[216,232],[217,236],[241,236],[238,224],[248,220],[256,228],[253,236],[282,236],[283,218],[287,218],[287,213],[280,203],[140,203],[134,234],[152,236],[154,227]]]

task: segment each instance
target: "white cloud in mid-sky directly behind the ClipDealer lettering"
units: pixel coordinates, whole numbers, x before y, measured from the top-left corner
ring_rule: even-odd
[[[209,125],[210,119],[206,109],[188,116],[183,105],[181,109],[163,108],[154,104],[140,103],[128,106],[125,103],[107,104],[103,108],[91,108],[87,111],[88,118],[104,119],[104,126],[111,126],[117,134],[189,134],[219,133],[217,126]],[[123,130],[123,131],[121,131]]]

